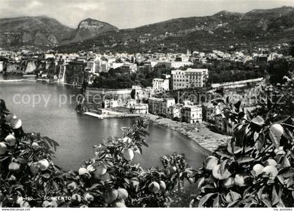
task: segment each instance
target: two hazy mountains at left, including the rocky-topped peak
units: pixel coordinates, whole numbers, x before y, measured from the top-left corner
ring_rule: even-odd
[[[116,29],[113,25],[91,18],[82,20],[77,29],[46,16],[3,18],[0,19],[0,46],[57,46]]]

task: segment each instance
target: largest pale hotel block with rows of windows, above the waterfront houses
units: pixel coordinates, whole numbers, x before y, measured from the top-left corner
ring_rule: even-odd
[[[208,69],[172,70],[172,89],[204,87],[208,79]]]

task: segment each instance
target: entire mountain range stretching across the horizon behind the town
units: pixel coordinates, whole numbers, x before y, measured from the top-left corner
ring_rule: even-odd
[[[248,13],[221,11],[204,17],[176,18],[134,29],[118,29],[86,19],[77,29],[47,17],[0,19],[0,46],[57,46],[56,50],[117,52],[212,50],[288,43],[294,40],[294,7]]]

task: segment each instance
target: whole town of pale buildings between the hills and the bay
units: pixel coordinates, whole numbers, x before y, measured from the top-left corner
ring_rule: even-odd
[[[241,100],[242,108],[255,108],[256,96],[267,80],[265,67],[275,60],[294,62],[293,57],[274,50],[286,47],[283,43],[251,54],[220,50],[187,50],[186,54],[1,50],[0,72],[23,74],[22,81],[81,88],[83,99],[77,102],[76,110],[97,118],[153,114],[182,123],[213,124],[230,135],[233,125],[223,115],[225,104],[219,98]],[[97,101],[96,95],[102,100]]]

